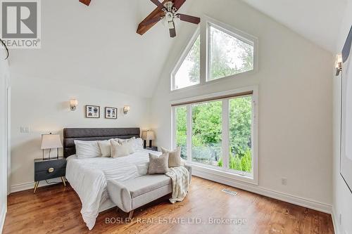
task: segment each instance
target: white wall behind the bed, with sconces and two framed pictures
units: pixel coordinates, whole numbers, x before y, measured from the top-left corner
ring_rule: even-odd
[[[69,110],[69,99],[77,98],[75,112]],[[32,188],[34,162],[42,157],[41,134],[62,135],[65,127],[149,127],[147,98],[128,96],[113,91],[36,79],[11,70],[11,187],[12,192]],[[101,118],[84,117],[84,105],[100,105]],[[122,114],[130,105],[128,115]],[[104,107],[119,108],[118,119],[105,119]],[[28,126],[29,134],[21,134],[20,126]],[[62,155],[62,152],[61,152]],[[44,182],[45,183],[45,182]],[[44,183],[41,183],[42,185]]]

